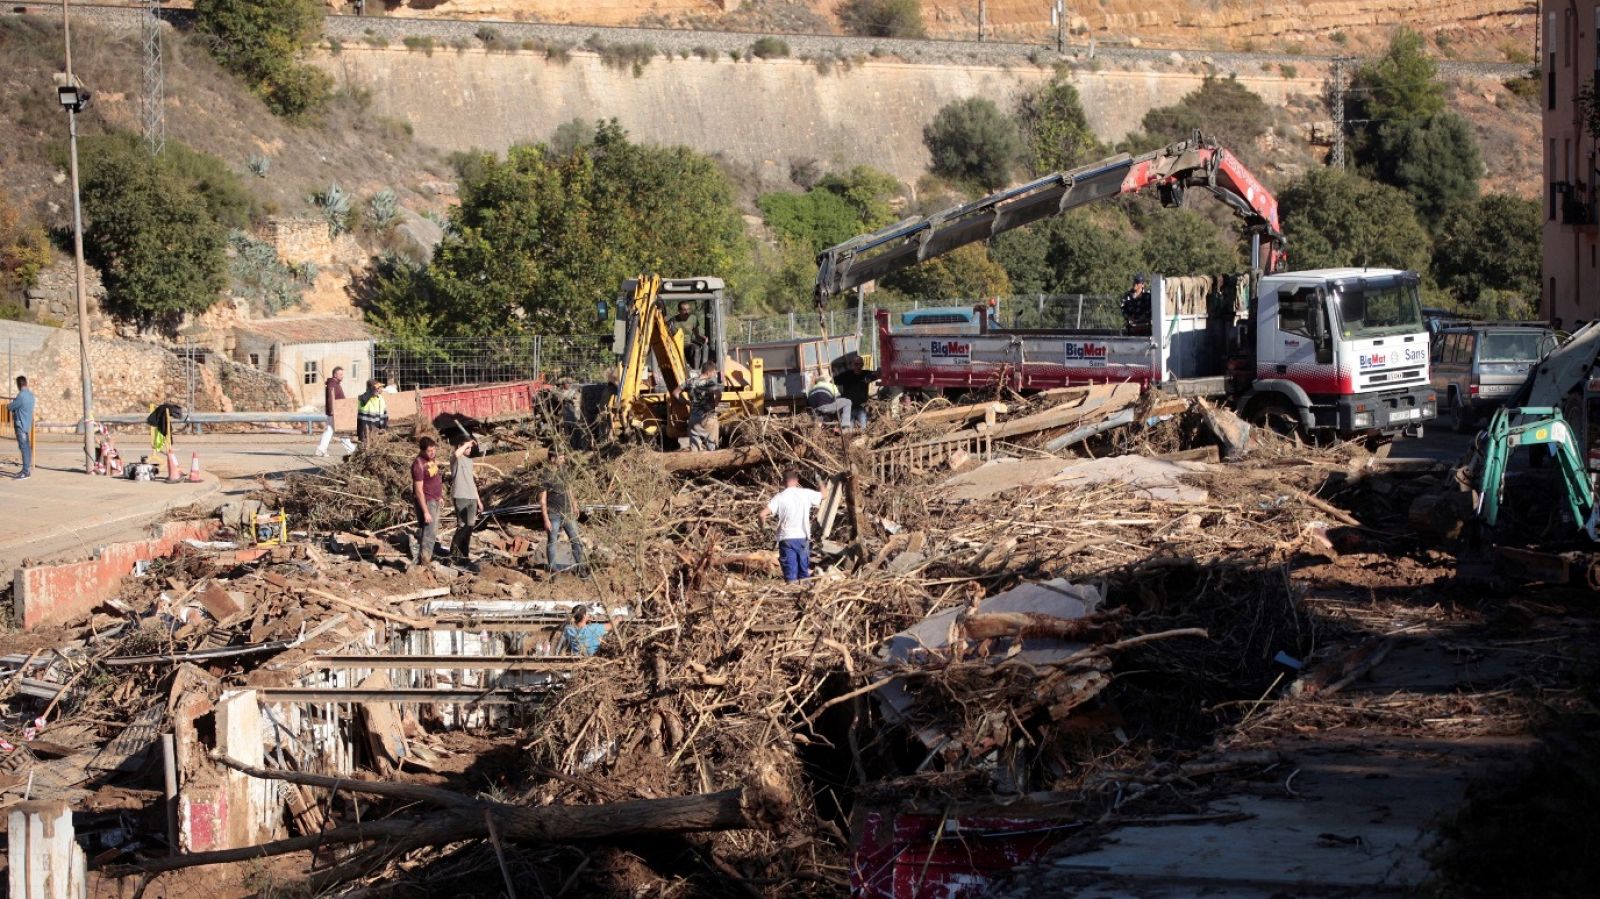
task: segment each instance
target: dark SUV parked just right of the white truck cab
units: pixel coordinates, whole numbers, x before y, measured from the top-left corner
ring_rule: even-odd
[[[1470,322],[1448,325],[1434,338],[1434,389],[1438,414],[1451,414],[1456,430],[1472,430],[1528,378],[1547,352],[1555,331],[1539,323]]]

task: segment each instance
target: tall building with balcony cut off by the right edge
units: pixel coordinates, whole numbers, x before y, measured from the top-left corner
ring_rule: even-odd
[[[1574,322],[1600,318],[1600,2],[1542,0],[1544,264],[1539,309]]]

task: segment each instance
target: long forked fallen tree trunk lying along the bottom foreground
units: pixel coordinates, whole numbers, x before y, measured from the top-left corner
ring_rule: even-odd
[[[794,797],[789,795],[789,789],[771,768],[758,768],[746,779],[742,787],[717,793],[606,805],[520,806],[462,797],[438,787],[387,781],[350,781],[349,777],[331,777],[302,771],[274,771],[245,765],[219,753],[213,753],[211,758],[227,768],[264,781],[285,781],[309,787],[384,795],[429,803],[434,808],[426,816],[365,821],[346,827],[333,827],[322,833],[274,840],[256,846],[107,865],[102,869],[104,873],[110,877],[160,873],[187,867],[264,859],[347,843],[392,841],[394,849],[410,851],[461,840],[485,840],[491,833],[499,840],[514,843],[549,845],[616,841],[635,837],[701,833],[707,830],[773,830],[794,809]]]

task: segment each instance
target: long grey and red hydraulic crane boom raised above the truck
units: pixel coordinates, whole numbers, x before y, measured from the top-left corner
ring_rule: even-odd
[[[1070,171],[1037,178],[979,200],[925,218],[906,219],[818,254],[816,304],[909,269],[968,243],[989,240],[1098,200],[1155,187],[1162,205],[1179,206],[1187,187],[1205,187],[1234,208],[1251,235],[1251,267],[1274,274],[1283,267],[1278,202],[1238,158],[1198,133],[1138,157],[1120,154]]]

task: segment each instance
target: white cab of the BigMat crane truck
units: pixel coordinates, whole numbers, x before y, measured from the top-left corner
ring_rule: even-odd
[[[1398,434],[1437,414],[1419,278],[1395,269],[1264,275],[1246,418],[1307,432]]]

